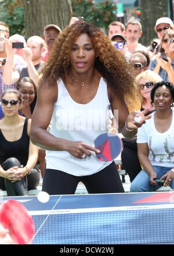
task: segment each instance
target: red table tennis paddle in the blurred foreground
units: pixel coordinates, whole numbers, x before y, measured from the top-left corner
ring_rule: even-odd
[[[20,202],[8,200],[0,206],[0,223],[9,230],[14,244],[31,243],[35,234],[34,222]]]

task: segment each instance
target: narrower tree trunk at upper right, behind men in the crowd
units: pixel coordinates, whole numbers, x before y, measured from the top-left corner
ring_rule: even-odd
[[[151,40],[157,37],[154,26],[160,17],[168,17],[168,1],[164,0],[141,0],[140,8],[142,15],[140,22],[143,27],[141,42],[143,45],[149,45]]]

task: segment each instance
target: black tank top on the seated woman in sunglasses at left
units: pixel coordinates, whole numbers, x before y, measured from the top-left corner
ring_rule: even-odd
[[[0,164],[9,157],[16,157],[24,166],[28,160],[30,137],[27,134],[28,118],[24,121],[23,133],[18,141],[7,141],[0,129]]]

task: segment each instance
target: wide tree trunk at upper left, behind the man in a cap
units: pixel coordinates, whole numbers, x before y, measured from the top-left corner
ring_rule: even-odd
[[[64,29],[70,22],[71,0],[23,0],[23,5],[27,38],[42,36],[48,24]]]

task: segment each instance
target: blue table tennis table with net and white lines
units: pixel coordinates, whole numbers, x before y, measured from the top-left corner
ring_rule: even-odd
[[[174,244],[174,192],[16,199],[34,219],[33,244]]]

